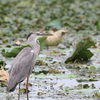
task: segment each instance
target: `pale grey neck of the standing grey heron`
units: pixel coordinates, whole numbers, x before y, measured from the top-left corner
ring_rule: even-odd
[[[39,54],[40,45],[36,39],[28,40],[29,45],[32,47],[32,50],[36,56]]]

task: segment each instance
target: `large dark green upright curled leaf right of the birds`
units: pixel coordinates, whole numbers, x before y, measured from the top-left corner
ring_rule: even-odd
[[[91,38],[82,39],[74,48],[72,53],[67,57],[65,63],[69,61],[88,60],[93,56],[93,53],[88,50],[91,46],[95,46],[95,42]]]

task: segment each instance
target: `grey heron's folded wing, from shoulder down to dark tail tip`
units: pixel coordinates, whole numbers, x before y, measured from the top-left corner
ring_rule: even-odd
[[[14,59],[9,71],[8,91],[23,81],[32,72],[36,57],[31,50],[30,47],[24,48]]]

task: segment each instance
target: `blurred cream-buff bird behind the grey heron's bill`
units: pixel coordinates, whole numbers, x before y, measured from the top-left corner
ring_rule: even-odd
[[[56,32],[49,31],[49,33],[53,34],[53,36],[47,37],[47,39],[46,39],[47,45],[48,46],[56,46],[61,42],[63,35],[65,33],[68,33],[68,31],[67,30],[59,30]]]

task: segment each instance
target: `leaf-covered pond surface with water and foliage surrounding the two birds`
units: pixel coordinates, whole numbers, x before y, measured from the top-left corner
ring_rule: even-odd
[[[62,44],[40,51],[29,96],[34,100],[99,100],[100,0],[0,0],[0,69],[9,71],[13,57],[26,46],[29,32],[61,29],[68,30]],[[44,40],[39,39],[41,47]],[[15,41],[21,45],[15,46]],[[2,85],[0,94],[1,99],[17,98],[16,92],[6,93]]]

